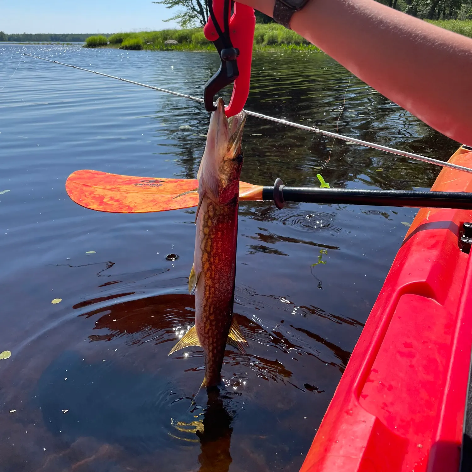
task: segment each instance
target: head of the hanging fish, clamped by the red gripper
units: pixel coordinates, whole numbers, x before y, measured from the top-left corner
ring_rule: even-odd
[[[207,142],[198,170],[199,193],[224,204],[239,194],[239,177],[243,168],[241,140],[246,113],[242,110],[229,119],[220,97],[210,118]]]

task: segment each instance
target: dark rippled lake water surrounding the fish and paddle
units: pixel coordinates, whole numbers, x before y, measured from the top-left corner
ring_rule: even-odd
[[[297,471],[416,211],[242,203],[235,313],[250,345],[228,347],[221,399],[192,406],[202,351],[168,352],[194,317],[194,211],[94,212],[64,184],[78,169],[195,178],[209,115],[23,52],[196,96],[219,62],[0,45],[0,471]],[[248,110],[335,131],[349,83],[339,132],[444,160],[458,147],[322,53],[257,53],[252,77]],[[249,117],[241,178],[319,185],[332,144]],[[438,170],[336,141],[321,172],[331,187],[423,189]]]

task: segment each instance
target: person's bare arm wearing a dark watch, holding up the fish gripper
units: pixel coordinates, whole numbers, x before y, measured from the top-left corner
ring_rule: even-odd
[[[238,0],[272,16],[275,0]],[[365,83],[472,145],[472,39],[374,0],[310,0],[290,23]]]

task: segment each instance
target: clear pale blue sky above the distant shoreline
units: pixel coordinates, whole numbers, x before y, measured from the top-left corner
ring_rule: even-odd
[[[116,33],[176,27],[151,0],[0,0],[5,33]]]

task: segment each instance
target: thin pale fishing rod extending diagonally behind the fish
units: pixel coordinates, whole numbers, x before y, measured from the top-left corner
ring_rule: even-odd
[[[141,87],[146,87],[146,88],[149,88],[151,90],[156,90],[157,92],[170,93],[171,95],[175,95],[177,97],[187,98],[187,99],[190,99],[190,100],[198,101],[200,103],[204,103],[203,99],[198,98],[198,97],[193,97],[192,95],[187,95],[185,93],[178,93],[178,92],[174,92],[172,90],[167,90],[167,89],[164,89],[164,88],[155,87],[155,86],[149,85],[149,84],[141,84],[140,82],[136,82],[134,80],[124,79],[124,78],[117,77],[117,76],[111,76],[110,74],[105,74],[103,72],[97,72],[95,70],[85,69],[84,67],[78,67],[78,66],[74,66],[74,65],[71,65],[71,64],[66,64],[65,62],[59,62],[57,60],[42,58],[41,56],[34,56],[33,54],[23,53],[23,55],[32,57],[34,59],[42,59],[42,60],[45,60],[47,62],[52,62],[53,64],[59,64],[61,66],[72,67],[73,69],[82,70],[84,72],[90,72],[90,73],[96,74],[98,76],[108,77],[110,79],[121,80],[122,82],[126,82],[128,84],[140,85]],[[262,113],[257,113],[255,111],[249,111],[249,110],[244,110],[244,111],[246,112],[247,115],[252,116],[252,117],[266,119],[266,120],[269,120],[269,121],[273,121],[275,123],[279,123],[281,125],[292,126],[294,128],[302,129],[304,131],[310,131],[312,133],[316,133],[316,134],[320,134],[320,135],[324,135],[324,136],[329,136],[329,137],[332,137],[332,138],[341,139],[343,141],[348,141],[348,142],[351,142],[351,143],[360,144],[361,146],[366,146],[366,147],[370,147],[372,149],[377,149],[378,151],[388,152],[390,154],[396,154],[398,156],[407,157],[409,159],[421,160],[422,162],[426,162],[428,164],[434,164],[434,165],[440,166],[440,167],[447,167],[449,169],[461,170],[463,172],[468,172],[468,173],[472,174],[472,169],[469,169],[469,168],[464,167],[464,166],[458,166],[457,164],[452,164],[450,162],[444,162],[442,160],[421,156],[420,154],[414,154],[412,152],[401,151],[401,150],[394,149],[394,148],[391,148],[391,147],[388,147],[388,146],[382,146],[381,144],[370,143],[369,141],[363,141],[362,139],[357,139],[357,138],[353,138],[353,137],[350,137],[350,136],[340,135],[338,133],[333,133],[331,131],[324,131],[324,130],[320,129],[318,126],[305,126],[305,125],[301,125],[299,123],[294,123],[292,121],[287,121],[286,119],[275,118],[275,117],[271,117],[269,115],[264,115]]]

